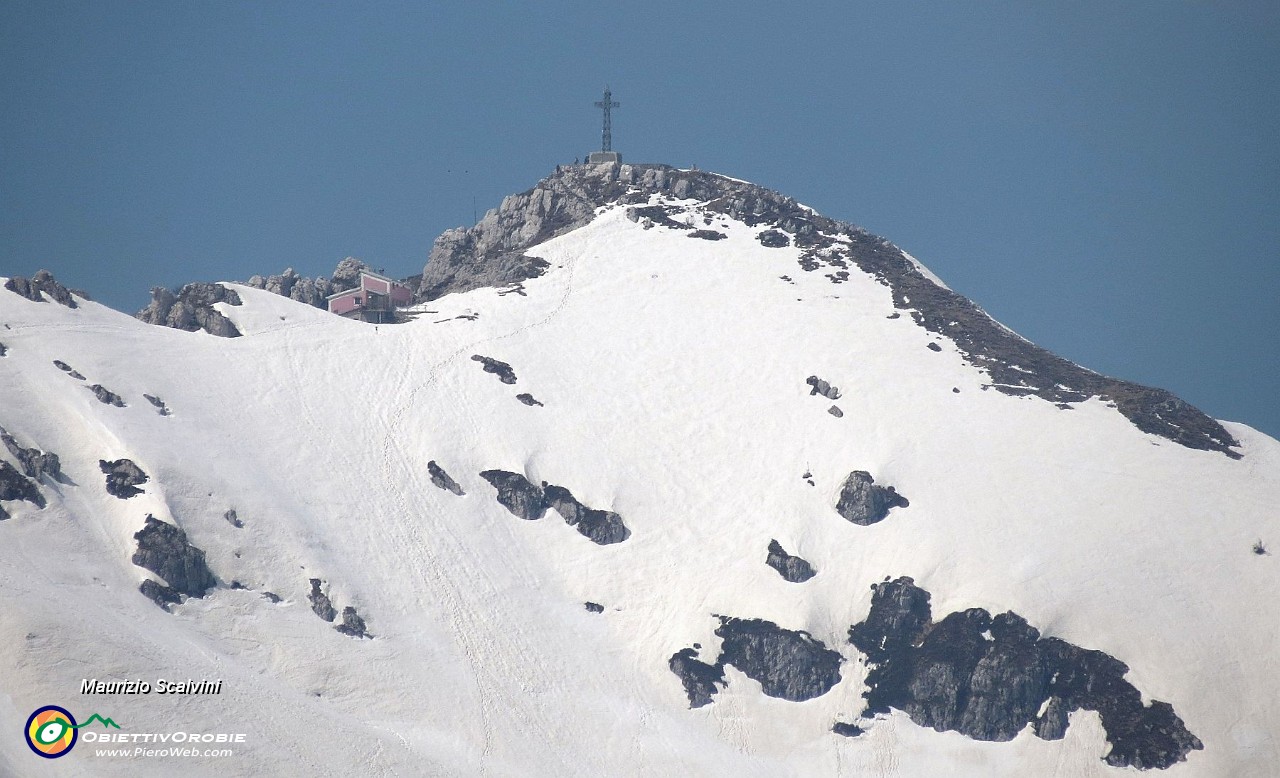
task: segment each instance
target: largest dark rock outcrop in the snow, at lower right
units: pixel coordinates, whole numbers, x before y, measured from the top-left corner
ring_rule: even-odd
[[[868,713],[895,708],[940,732],[1009,741],[1027,724],[1061,738],[1070,711],[1096,710],[1114,766],[1164,769],[1203,749],[1167,703],[1144,706],[1129,668],[1102,651],[1041,637],[1011,612],[972,608],[934,623],[929,594],[908,577],[872,589],[867,619],[849,631],[868,658]]]

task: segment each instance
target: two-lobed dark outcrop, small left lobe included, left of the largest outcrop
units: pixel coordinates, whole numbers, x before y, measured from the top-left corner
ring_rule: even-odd
[[[719,617],[716,635],[722,639],[716,664],[696,656],[696,646],[677,651],[668,667],[680,676],[689,695],[689,706],[712,701],[717,687],[724,686],[724,667],[733,665],[760,690],[792,703],[819,697],[840,682],[840,653],[814,640],[808,632],[785,630],[763,619]]]

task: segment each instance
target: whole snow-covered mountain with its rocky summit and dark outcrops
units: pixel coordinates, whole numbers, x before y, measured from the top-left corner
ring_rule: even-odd
[[[394,326],[288,274],[154,311],[230,338],[0,292],[0,731],[252,722],[196,774],[1280,760],[1280,443],[704,171],[562,169],[433,253]],[[221,692],[81,692],[160,677]]]

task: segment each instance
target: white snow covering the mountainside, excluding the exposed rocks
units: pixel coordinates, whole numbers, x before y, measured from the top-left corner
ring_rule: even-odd
[[[1060,409],[984,390],[950,342],[890,317],[874,279],[796,273],[799,250],[763,247],[764,228],[713,221],[726,239],[602,209],[531,252],[550,269],[526,296],[476,289],[376,329],[246,287],[219,306],[236,339],[0,292],[0,425],[74,481],[44,482],[45,509],[5,503],[0,522],[0,773],[173,774],[172,758],[91,742],[36,758],[18,733],[46,704],[125,732],[247,733],[230,756],[183,760],[192,775],[1124,772],[1084,711],[1061,741],[978,742],[897,711],[833,734],[863,709],[847,630],[870,584],[911,576],[936,617],[1015,610],[1125,662],[1204,743],[1161,774],[1275,774],[1280,568],[1251,545],[1280,545],[1280,443],[1229,424],[1233,461],[1097,398]],[[517,384],[472,354],[511,363]],[[810,375],[844,395],[810,395]],[[106,494],[97,463],[116,458],[151,476],[146,494]],[[429,461],[466,495],[433,486]],[[477,475],[493,468],[620,513],[630,539],[516,518]],[[833,505],[852,470],[910,507],[845,521]],[[138,594],[154,576],[129,560],[147,513],[184,528],[219,580],[172,614]],[[818,575],[783,581],[764,564],[771,539]],[[310,578],[376,637],[317,618]],[[842,679],[790,703],[730,668],[714,703],[689,709],[667,660],[695,642],[714,658],[714,614],[808,631],[845,658]],[[82,678],[224,683],[84,696]]]

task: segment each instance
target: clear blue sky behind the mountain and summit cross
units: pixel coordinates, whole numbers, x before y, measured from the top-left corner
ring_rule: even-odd
[[[0,275],[421,271],[599,145],[884,235],[1087,367],[1280,436],[1280,4],[0,3]]]

